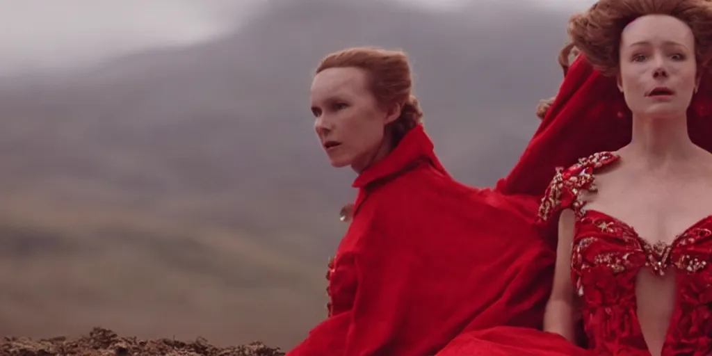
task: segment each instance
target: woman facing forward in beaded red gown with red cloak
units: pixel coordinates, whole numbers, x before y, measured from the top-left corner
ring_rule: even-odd
[[[545,331],[464,333],[438,355],[710,355],[712,2],[601,0],[569,31],[582,56],[500,182],[545,192]]]

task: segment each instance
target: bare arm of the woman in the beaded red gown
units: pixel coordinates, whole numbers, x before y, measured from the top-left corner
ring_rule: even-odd
[[[574,235],[574,213],[562,211],[559,217],[554,284],[544,313],[544,330],[575,340],[575,290],[571,282],[571,244]]]

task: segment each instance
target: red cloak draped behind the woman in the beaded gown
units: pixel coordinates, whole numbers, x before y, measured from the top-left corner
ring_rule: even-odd
[[[615,151],[632,135],[631,112],[614,78],[579,56],[567,70],[554,103],[512,172],[497,184],[505,194],[541,197],[556,167],[570,167],[595,152]],[[690,137],[712,151],[712,75],[706,74],[688,111]],[[555,221],[553,221],[555,223]],[[543,226],[556,246],[557,224]],[[560,335],[527,328],[496,327],[462,333],[437,356],[587,355]]]

